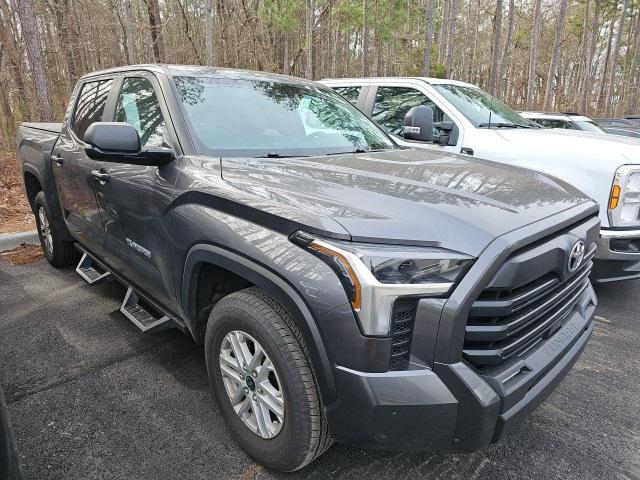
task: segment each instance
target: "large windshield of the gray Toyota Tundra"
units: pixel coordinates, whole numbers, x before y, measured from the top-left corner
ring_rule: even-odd
[[[173,77],[198,153],[296,157],[396,148],[364,114],[313,84]]]

